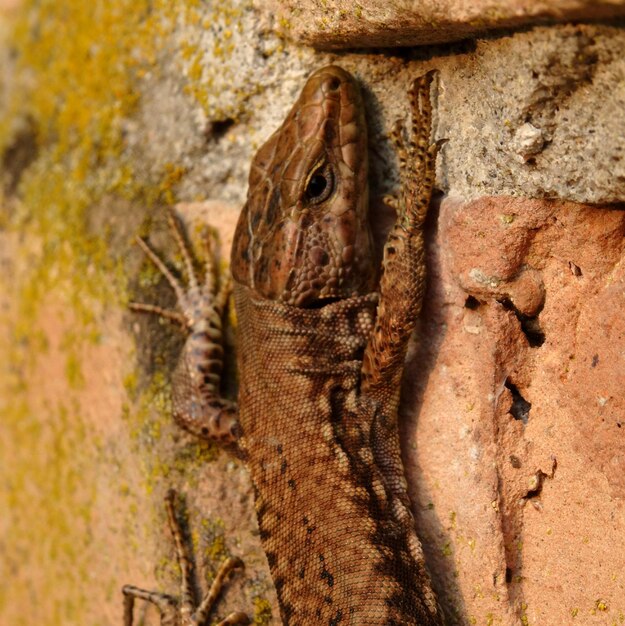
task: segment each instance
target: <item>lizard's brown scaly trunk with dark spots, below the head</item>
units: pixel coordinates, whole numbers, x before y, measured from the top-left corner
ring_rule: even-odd
[[[321,309],[235,287],[240,446],[285,624],[427,624],[359,397],[377,295]]]

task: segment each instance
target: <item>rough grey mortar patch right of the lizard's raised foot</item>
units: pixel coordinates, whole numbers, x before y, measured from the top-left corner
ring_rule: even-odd
[[[535,28],[439,61],[448,193],[625,200],[625,31]]]

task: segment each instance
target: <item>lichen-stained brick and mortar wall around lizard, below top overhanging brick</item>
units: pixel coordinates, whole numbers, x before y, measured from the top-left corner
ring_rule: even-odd
[[[439,70],[437,186],[457,199],[431,220],[404,408],[450,623],[620,623],[623,212],[565,201],[624,201],[625,31],[326,54],[274,37],[245,0],[7,7],[25,20],[0,25],[0,623],[119,624],[122,584],[175,592],[171,486],[202,576],[245,558],[220,614],[279,623],[244,468],[171,423],[181,334],[126,303],[173,304],[133,245],[149,233],[181,270],[164,205],[200,256],[218,228],[225,267],[254,151],[328,62],[365,91],[378,243],[386,134],[410,81]]]

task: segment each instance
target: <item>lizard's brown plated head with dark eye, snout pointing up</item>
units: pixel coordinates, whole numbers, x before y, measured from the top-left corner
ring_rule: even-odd
[[[252,161],[235,281],[297,307],[371,291],[367,167],[358,85],[339,67],[316,71]]]

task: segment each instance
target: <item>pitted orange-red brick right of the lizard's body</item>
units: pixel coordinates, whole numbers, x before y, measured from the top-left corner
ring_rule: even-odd
[[[408,475],[451,623],[618,623],[625,211],[447,199],[430,281]]]

